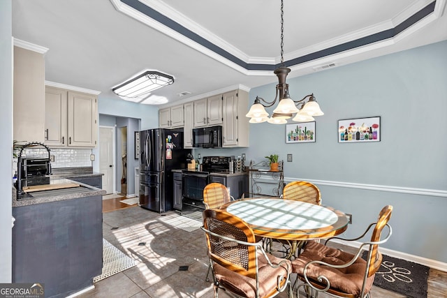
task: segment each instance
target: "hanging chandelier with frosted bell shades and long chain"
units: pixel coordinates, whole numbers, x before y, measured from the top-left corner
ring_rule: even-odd
[[[324,113],[321,111],[320,106],[316,103],[314,94],[309,94],[301,100],[293,100],[288,95],[288,84],[286,83],[286,77],[291,72],[290,68],[284,66],[284,1],[281,0],[281,66],[274,70],[274,74],[277,75],[279,84],[276,87],[276,96],[273,101],[267,101],[263,98],[256,96],[254,104],[251,105],[249,112],[245,115],[251,118],[250,123],[262,123],[268,121],[271,124],[286,124],[287,119],[293,117],[293,121],[306,122],[314,121],[313,116],[321,116]],[[272,117],[268,117],[268,112],[265,112],[265,107],[271,107],[277,102],[277,107],[273,110]],[[307,102],[305,99],[309,98]],[[263,103],[261,103],[261,100]],[[298,108],[300,107],[300,108]]]

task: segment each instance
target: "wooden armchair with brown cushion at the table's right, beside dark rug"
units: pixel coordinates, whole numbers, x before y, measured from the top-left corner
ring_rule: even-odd
[[[332,237],[326,240],[324,245],[309,241],[300,256],[292,261],[293,272],[304,281],[297,287],[297,296],[300,297],[299,290],[303,287],[307,297],[309,294],[312,295],[310,297],[316,297],[319,292],[327,292],[335,297],[370,297],[374,275],[382,262],[379,244],[385,243],[392,234],[392,229],[388,225],[392,211],[393,206],[383,207],[378,221],[370,224],[356,239]],[[362,239],[372,227],[374,230],[370,240],[362,243],[355,254],[328,246],[328,242],[332,239],[344,241]],[[381,237],[385,227],[388,227],[388,234],[386,237]],[[365,248],[367,248],[366,260],[362,259]]]

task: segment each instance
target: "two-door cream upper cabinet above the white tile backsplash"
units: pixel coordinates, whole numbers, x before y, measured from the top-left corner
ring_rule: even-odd
[[[45,87],[45,144],[50,147],[96,147],[96,95]]]

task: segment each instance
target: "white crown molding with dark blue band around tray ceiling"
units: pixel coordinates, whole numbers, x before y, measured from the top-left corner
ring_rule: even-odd
[[[237,49],[237,47],[230,45],[212,32],[200,27],[196,22],[174,10],[163,1],[110,1],[115,6],[115,9],[129,15],[129,17],[147,24],[147,26],[192,47],[194,50],[202,52],[244,75],[268,75],[279,64],[279,57],[249,57]],[[395,33],[400,24],[408,22],[414,15],[417,15],[427,8],[430,3],[434,2],[434,11],[428,13],[422,20],[405,27],[403,31]],[[351,57],[361,52],[393,45],[440,17],[443,13],[445,2],[446,0],[418,0],[390,20],[332,38],[323,43],[285,53],[285,64],[292,69],[301,69],[305,68],[305,66],[316,66],[325,63],[325,61]],[[129,3],[129,5],[126,3]],[[160,21],[155,20],[156,17],[159,17]],[[166,24],[162,24],[162,22]],[[168,24],[175,24],[176,29],[182,27],[183,32],[175,31]],[[313,61],[316,61],[316,63]],[[301,64],[303,65],[301,66]]]

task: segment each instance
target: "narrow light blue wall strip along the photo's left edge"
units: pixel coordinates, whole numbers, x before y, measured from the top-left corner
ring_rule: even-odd
[[[13,165],[13,40],[11,1],[0,1],[0,283],[10,283],[12,274],[12,197]]]

